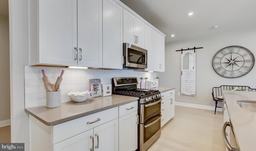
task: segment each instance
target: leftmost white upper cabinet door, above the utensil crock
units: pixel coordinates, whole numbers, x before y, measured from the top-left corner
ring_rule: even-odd
[[[39,63],[77,66],[76,0],[39,0]]]

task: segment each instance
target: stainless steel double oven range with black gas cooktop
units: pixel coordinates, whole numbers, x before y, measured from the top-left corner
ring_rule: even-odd
[[[138,151],[146,151],[161,135],[161,93],[158,90],[137,89],[137,77],[113,78],[113,93],[138,97]]]

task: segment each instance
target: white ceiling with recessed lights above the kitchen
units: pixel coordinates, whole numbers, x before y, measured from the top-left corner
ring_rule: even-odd
[[[166,42],[256,27],[256,0],[121,1],[166,34]]]

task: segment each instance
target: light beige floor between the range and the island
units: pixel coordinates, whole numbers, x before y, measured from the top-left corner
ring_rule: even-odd
[[[147,151],[225,151],[222,112],[175,107],[175,117]]]

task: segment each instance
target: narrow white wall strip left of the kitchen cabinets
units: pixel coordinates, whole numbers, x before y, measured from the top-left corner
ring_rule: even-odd
[[[28,0],[9,0],[11,141],[29,151],[28,114],[24,111],[24,65],[28,64]]]

